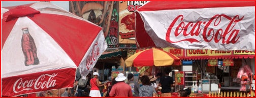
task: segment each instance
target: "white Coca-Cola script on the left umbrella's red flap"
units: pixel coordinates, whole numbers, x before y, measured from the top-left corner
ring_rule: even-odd
[[[44,89],[49,87],[54,87],[56,85],[56,80],[53,78],[57,76],[57,74],[43,74],[39,76],[37,79],[31,80],[23,80],[19,78],[13,85],[13,92],[18,93],[23,90],[36,90],[36,89]]]

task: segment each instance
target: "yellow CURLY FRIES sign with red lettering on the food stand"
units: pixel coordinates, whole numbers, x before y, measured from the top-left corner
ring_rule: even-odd
[[[222,50],[187,50],[187,56],[217,56],[217,55],[232,55],[232,51]]]

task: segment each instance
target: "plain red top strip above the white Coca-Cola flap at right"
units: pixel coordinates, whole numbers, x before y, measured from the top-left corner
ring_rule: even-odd
[[[152,1],[138,11],[255,6],[255,1]]]

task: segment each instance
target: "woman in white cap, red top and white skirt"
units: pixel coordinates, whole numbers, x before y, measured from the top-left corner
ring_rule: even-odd
[[[100,76],[99,73],[94,72],[92,75],[93,75],[93,78],[90,79],[91,89],[90,89],[89,96],[91,96],[91,97],[101,97],[101,92],[100,92],[99,87],[104,86],[107,83],[99,84],[99,79],[98,79],[98,76]]]

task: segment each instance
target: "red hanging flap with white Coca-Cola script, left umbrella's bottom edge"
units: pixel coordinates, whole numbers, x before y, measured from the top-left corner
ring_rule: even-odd
[[[73,87],[76,69],[61,69],[2,78],[2,95],[14,96],[50,89]],[[6,87],[8,86],[8,87]]]

